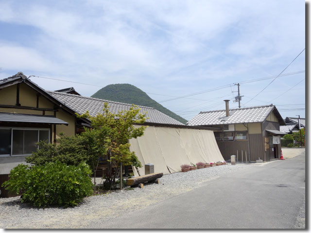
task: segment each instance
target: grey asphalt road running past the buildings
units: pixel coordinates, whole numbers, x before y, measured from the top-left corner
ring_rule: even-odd
[[[231,165],[230,165],[231,166]],[[305,197],[305,154],[249,165],[154,206],[103,222],[103,228],[288,229]]]

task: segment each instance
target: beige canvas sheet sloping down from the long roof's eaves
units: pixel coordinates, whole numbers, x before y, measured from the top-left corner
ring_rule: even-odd
[[[210,130],[148,126],[144,135],[130,139],[130,144],[143,165],[139,168],[141,176],[145,174],[144,165],[149,163],[154,164],[155,172],[170,174],[181,171],[182,164],[224,161]]]

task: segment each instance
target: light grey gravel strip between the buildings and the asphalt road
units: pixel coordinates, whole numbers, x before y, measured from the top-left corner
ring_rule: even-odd
[[[38,209],[20,203],[19,197],[0,199],[0,228],[95,228],[98,222],[131,214],[158,201],[171,198],[203,185],[203,182],[252,165],[214,166],[189,172],[164,175],[160,184],[146,184],[143,189],[115,191],[105,195],[91,196],[77,207],[49,207]]]

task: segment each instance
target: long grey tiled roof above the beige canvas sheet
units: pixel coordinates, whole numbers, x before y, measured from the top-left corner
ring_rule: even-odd
[[[55,91],[47,91],[47,93],[49,93],[52,97],[59,100],[60,102],[63,102],[64,105],[71,108],[76,113],[83,114],[88,110],[91,116],[96,116],[97,114],[103,113],[104,102],[108,102],[108,105],[110,107],[109,110],[111,113],[114,114],[123,110],[129,110],[129,108],[132,106],[132,104],[128,103],[120,103],[110,100],[102,100],[91,97],[71,95]],[[160,111],[154,108],[145,106],[138,106],[138,107],[141,109],[140,113],[143,114],[147,112],[146,116],[149,117],[149,119],[147,119],[146,122],[184,125],[183,123],[173,119],[170,116],[165,115],[164,113],[161,113]]]

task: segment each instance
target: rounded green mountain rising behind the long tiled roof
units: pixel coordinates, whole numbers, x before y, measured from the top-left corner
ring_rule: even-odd
[[[97,91],[91,97],[103,99],[103,100],[112,100],[122,103],[134,103],[136,105],[153,107],[156,110],[171,116],[175,120],[186,124],[187,120],[163,107],[161,104],[151,99],[145,92],[140,90],[134,85],[131,84],[110,84],[105,86],[104,88]]]

